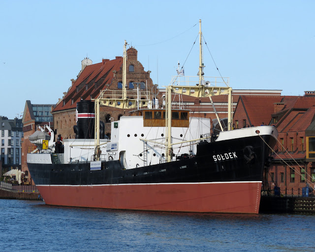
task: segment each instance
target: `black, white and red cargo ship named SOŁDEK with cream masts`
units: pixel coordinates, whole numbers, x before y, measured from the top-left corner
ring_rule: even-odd
[[[201,21],[199,20],[201,44]],[[157,100],[128,99],[124,44],[123,90],[108,98],[77,103],[75,139],[47,126],[50,140],[28,154],[32,179],[48,205],[198,213],[259,211],[263,171],[270,164],[278,131],[274,126],[232,128],[232,89],[203,77],[201,46],[198,83],[168,85],[163,108]],[[180,71],[178,71],[180,72]],[[139,92],[139,91],[138,91]],[[209,118],[172,107],[174,95],[227,95],[227,130],[214,133]],[[106,96],[106,98],[104,98]],[[99,106],[136,109],[111,122],[104,135]],[[220,120],[218,120],[220,125]],[[47,134],[46,134],[47,138]]]

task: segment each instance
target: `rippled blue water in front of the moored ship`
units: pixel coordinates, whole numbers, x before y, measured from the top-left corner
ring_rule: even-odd
[[[186,214],[0,199],[0,251],[315,251],[315,215]]]

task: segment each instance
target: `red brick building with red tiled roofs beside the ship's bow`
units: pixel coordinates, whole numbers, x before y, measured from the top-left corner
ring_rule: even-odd
[[[240,123],[237,123],[240,122]],[[243,123],[246,122],[246,123]],[[307,183],[315,183],[315,95],[244,97],[240,96],[233,123],[276,126],[278,142],[273,162],[265,172],[269,189],[280,187],[282,194],[302,194]],[[237,127],[237,126],[236,126]]]

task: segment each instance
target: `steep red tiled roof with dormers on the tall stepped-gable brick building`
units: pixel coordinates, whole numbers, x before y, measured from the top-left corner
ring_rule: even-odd
[[[53,112],[75,109],[76,103],[82,99],[92,99],[99,95],[100,90],[106,89],[114,79],[113,71],[121,71],[123,58],[116,57],[115,60],[103,60],[101,63],[87,65],[78,79],[70,87],[63,101],[57,104]],[[72,100],[73,99],[73,100]],[[63,105],[64,104],[64,105]]]

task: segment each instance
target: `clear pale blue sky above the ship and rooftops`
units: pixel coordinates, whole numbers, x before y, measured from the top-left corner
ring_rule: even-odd
[[[314,12],[314,0],[0,0],[0,115],[56,104],[84,58],[123,56],[125,40],[160,88],[178,62],[195,76],[199,19],[205,76],[304,95],[315,91]]]

